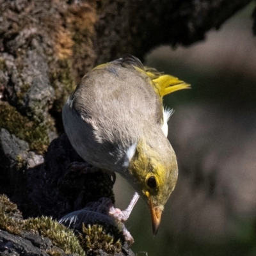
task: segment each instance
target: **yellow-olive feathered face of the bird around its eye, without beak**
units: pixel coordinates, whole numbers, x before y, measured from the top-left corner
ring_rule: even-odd
[[[160,153],[161,154],[161,153]],[[129,163],[129,179],[141,196],[153,206],[163,207],[177,182],[176,157],[161,159],[159,152],[145,141],[138,142],[134,156]],[[149,196],[149,197],[148,197]],[[160,206],[159,206],[160,205]]]

